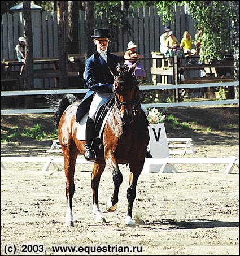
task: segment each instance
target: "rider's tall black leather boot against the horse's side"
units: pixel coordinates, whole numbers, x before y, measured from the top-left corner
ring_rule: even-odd
[[[95,124],[93,119],[88,118],[86,122],[86,153],[85,153],[85,159],[87,161],[95,161],[96,155],[93,149],[91,149],[91,145],[93,144],[93,139],[95,135]]]

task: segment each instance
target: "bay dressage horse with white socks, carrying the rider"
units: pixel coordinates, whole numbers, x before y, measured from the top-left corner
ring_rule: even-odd
[[[112,171],[114,192],[106,203],[106,209],[108,212],[114,212],[119,200],[119,188],[123,182],[119,164],[129,164],[129,187],[126,195],[128,210],[125,224],[126,227],[132,228],[135,227],[132,211],[136,197],[137,180],[142,171],[147,145],[149,144],[147,117],[140,106],[138,81],[133,74],[135,67],[136,64],[131,68],[124,65],[118,66],[119,74],[114,76],[113,85],[115,102],[103,131],[104,159],[94,163],[93,172],[91,173],[93,214],[96,222],[105,222],[106,220],[98,205],[98,186],[101,175],[107,164]],[[67,178],[66,226],[73,226],[72,198],[75,191],[76,159],[79,153],[85,155],[85,141],[76,138],[78,123],[75,118],[79,103],[78,99],[72,94],[67,94],[62,99],[55,101],[55,106],[58,107],[58,111],[55,113],[55,121],[58,125],[59,142],[63,150],[64,171]]]

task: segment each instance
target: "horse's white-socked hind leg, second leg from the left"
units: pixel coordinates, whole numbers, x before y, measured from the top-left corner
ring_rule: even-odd
[[[91,173],[91,189],[93,190],[93,214],[96,222],[106,222],[98,205],[98,186],[100,178],[105,169],[105,164],[94,164],[93,172]]]

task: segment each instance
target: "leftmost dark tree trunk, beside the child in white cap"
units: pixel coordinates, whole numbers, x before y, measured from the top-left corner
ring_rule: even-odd
[[[30,1],[23,1],[23,26],[25,41],[25,89],[34,89],[33,79],[33,33],[32,33],[32,16]],[[34,107],[34,96],[25,96],[25,108],[32,109]]]

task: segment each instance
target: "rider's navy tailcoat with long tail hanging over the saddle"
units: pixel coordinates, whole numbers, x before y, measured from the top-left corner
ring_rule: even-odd
[[[85,76],[86,85],[90,89],[85,97],[82,99],[77,109],[76,122],[89,111],[91,101],[93,100],[94,93],[111,93],[112,85],[114,83],[114,76],[112,76],[109,68],[114,75],[117,75],[116,70],[119,57],[114,54],[107,53],[107,63],[96,51],[91,57],[86,60]],[[109,67],[109,68],[108,68]]]

